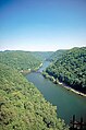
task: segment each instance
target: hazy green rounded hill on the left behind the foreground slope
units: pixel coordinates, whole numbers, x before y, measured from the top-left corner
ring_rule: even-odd
[[[0,51],[0,62],[17,70],[34,70],[40,66],[40,60],[29,51]]]

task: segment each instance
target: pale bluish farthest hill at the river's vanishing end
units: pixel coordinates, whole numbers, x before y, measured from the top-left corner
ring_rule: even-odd
[[[53,51],[32,51],[32,54],[41,61],[51,57]]]

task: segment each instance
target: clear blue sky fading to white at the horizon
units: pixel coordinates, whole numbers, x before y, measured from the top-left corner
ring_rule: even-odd
[[[86,46],[86,0],[0,0],[0,50]]]

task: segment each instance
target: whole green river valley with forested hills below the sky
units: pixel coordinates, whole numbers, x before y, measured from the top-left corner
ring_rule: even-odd
[[[75,90],[85,93],[85,52],[86,48],[61,50],[61,56],[60,50],[59,55],[58,51],[0,51],[0,129],[69,130],[66,125],[73,115],[86,121],[86,97],[67,91],[60,83],[63,78],[71,80],[74,68],[77,73],[73,82],[81,83],[75,84]],[[49,57],[53,56],[51,61]],[[76,82],[77,75],[79,82]],[[70,81],[63,83],[70,85]]]

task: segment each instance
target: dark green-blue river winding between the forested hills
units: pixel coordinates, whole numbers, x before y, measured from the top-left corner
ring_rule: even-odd
[[[45,61],[38,72],[46,69],[49,63],[49,61]],[[52,83],[38,72],[27,74],[26,79],[35,84],[48,102],[57,106],[58,117],[64,119],[65,123],[70,123],[70,119],[73,115],[76,116],[77,120],[79,120],[82,116],[84,121],[86,121],[86,97],[70,92],[59,84]]]

